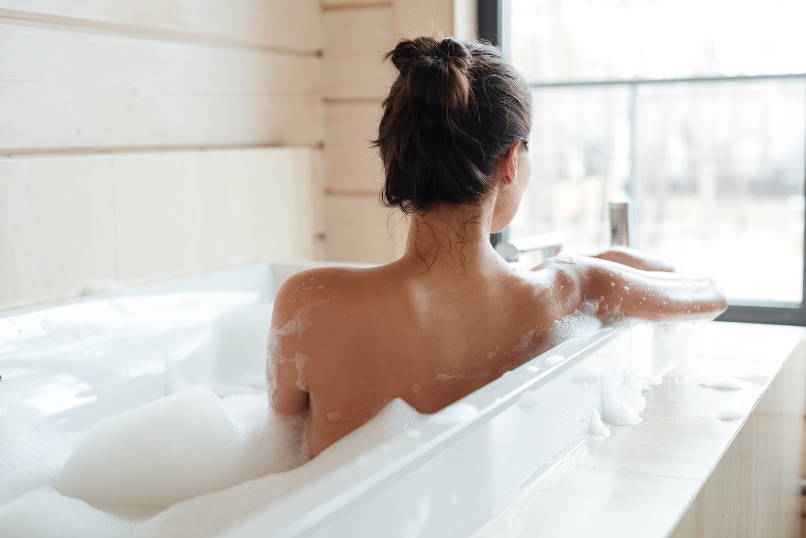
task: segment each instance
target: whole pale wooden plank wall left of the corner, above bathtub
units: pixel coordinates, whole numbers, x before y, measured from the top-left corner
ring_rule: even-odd
[[[318,0],[0,0],[0,309],[323,255]]]

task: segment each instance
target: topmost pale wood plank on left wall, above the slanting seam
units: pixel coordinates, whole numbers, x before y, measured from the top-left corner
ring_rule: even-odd
[[[0,17],[314,53],[317,0],[0,0]]]

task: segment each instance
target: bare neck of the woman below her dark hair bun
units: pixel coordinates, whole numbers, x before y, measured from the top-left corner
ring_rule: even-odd
[[[422,272],[454,271],[467,274],[496,263],[490,244],[492,219],[484,207],[437,207],[414,213],[401,262]]]

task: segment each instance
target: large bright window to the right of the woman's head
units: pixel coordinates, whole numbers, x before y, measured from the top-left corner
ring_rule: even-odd
[[[534,95],[510,237],[559,230],[568,250],[602,250],[607,201],[626,196],[634,246],[716,275],[721,319],[806,325],[806,2],[498,6]]]

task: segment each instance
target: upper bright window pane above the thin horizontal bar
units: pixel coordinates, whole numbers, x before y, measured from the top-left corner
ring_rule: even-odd
[[[510,0],[532,81],[806,71],[803,0]]]

